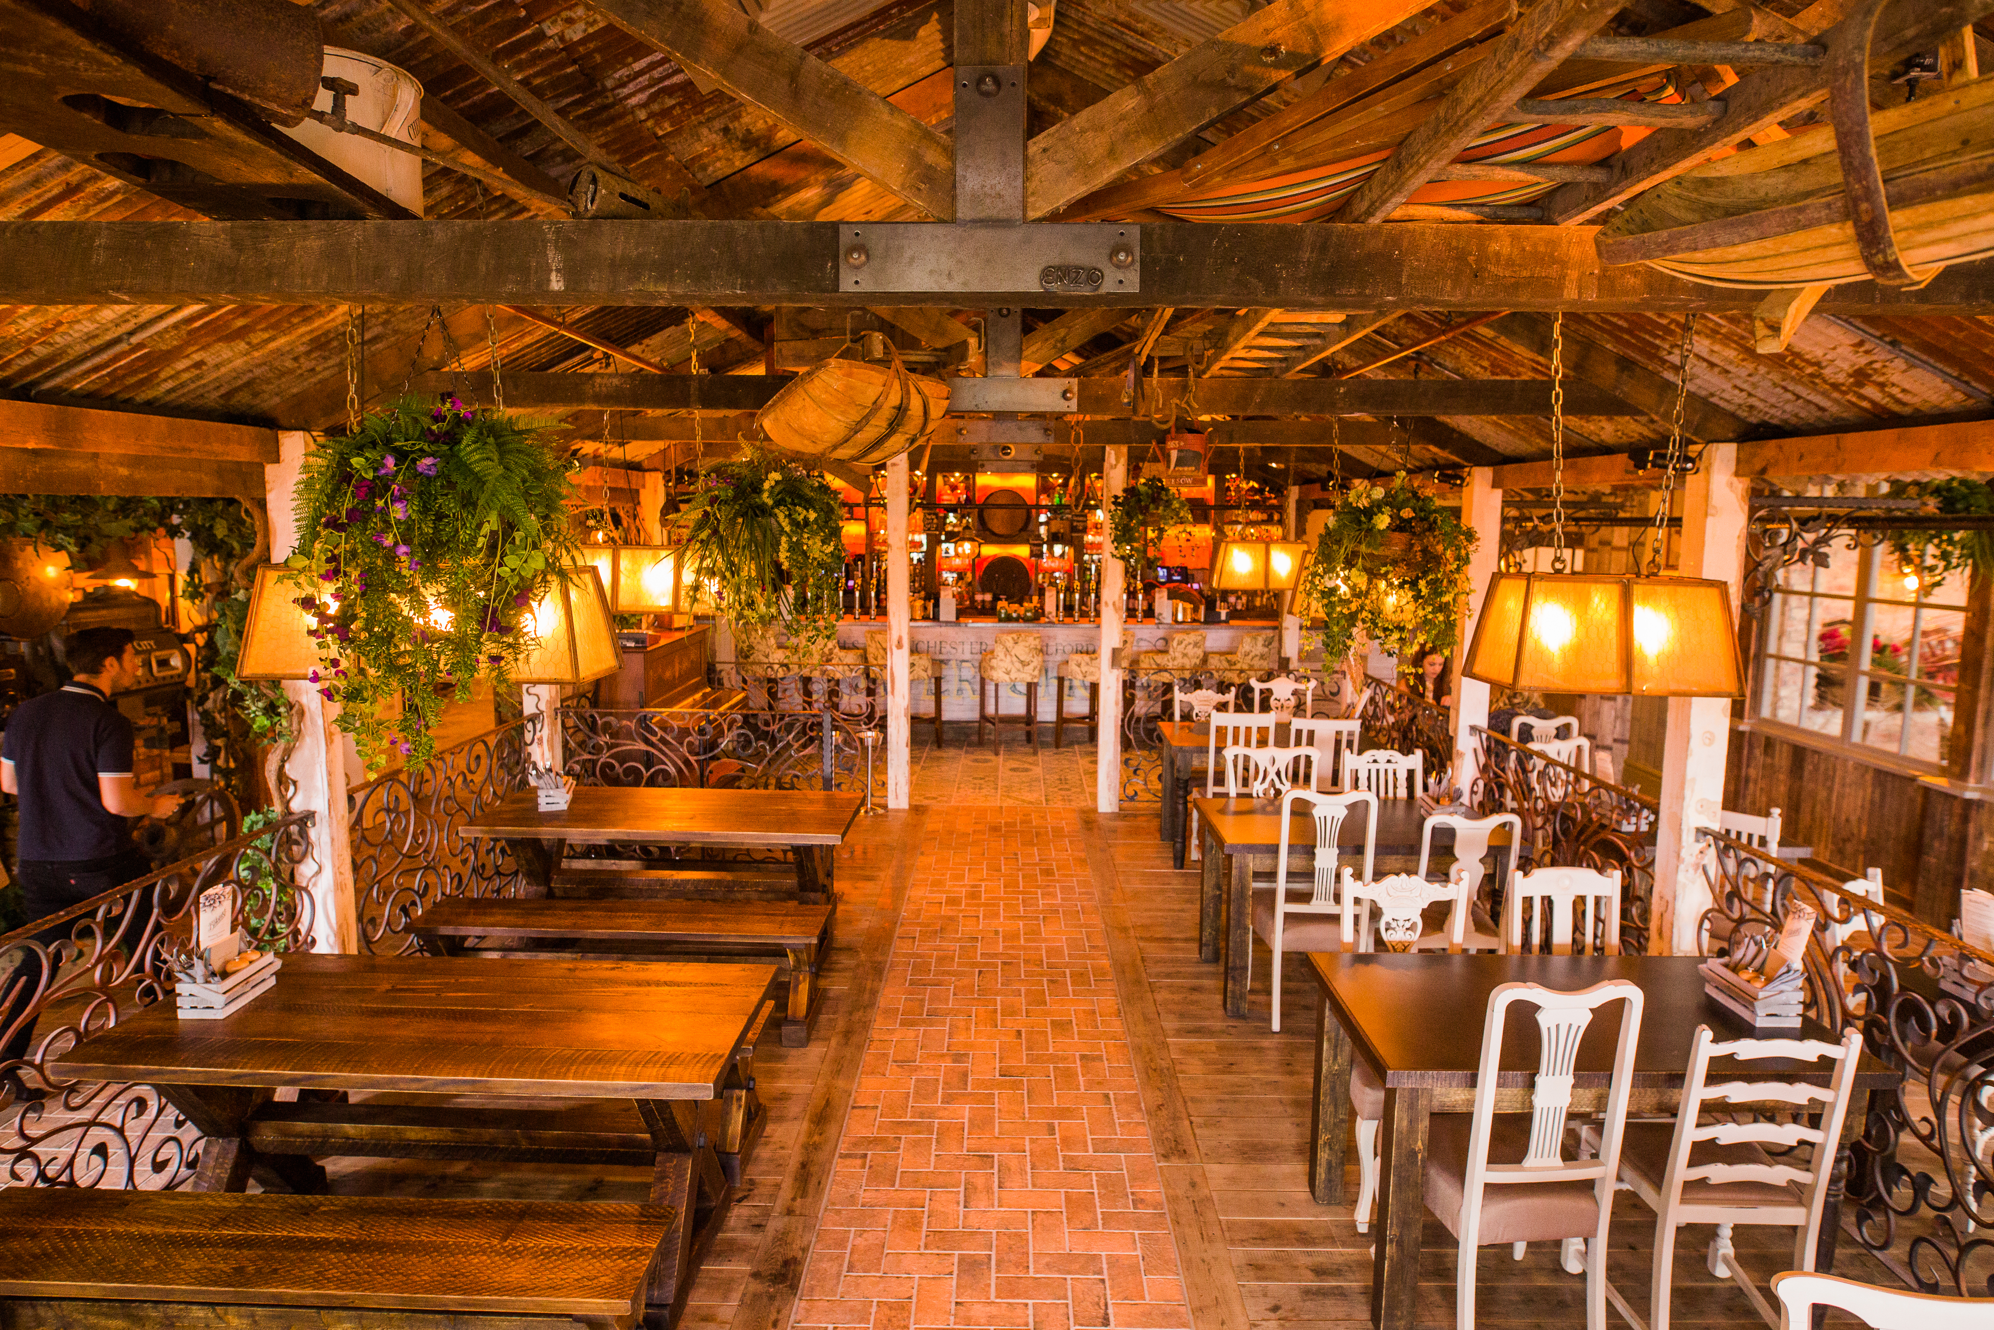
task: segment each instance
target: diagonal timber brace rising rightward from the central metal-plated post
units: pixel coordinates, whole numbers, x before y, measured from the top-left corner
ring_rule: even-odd
[[[1025,215],[1065,207],[1422,8],[1418,0],[1274,0],[1031,140]]]

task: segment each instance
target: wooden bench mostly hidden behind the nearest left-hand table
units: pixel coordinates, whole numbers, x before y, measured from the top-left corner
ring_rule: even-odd
[[[710,1133],[720,1172],[740,1186],[768,1109],[756,1093],[754,1043],[776,1011],[766,1003],[748,1027],[714,1111]],[[299,1099],[259,1105],[243,1125],[259,1157],[353,1155],[371,1159],[479,1159],[530,1164],[626,1164],[650,1168],[656,1141],[626,1101],[568,1103],[548,1109],[421,1105],[399,1099]]]

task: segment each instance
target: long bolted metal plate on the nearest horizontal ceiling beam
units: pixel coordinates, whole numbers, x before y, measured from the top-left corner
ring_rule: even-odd
[[[873,221],[837,227],[843,291],[1129,295],[1143,227],[1127,221]]]

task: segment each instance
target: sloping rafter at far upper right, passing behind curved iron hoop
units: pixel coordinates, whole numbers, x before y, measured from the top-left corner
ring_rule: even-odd
[[[1805,10],[1799,18],[1803,32],[1813,36],[1805,22],[1811,14],[1840,18],[1842,8],[1817,4]],[[1870,68],[1888,68],[1912,52],[1932,50],[1948,34],[1990,12],[1994,0],[1918,0],[1918,4],[1890,6],[1876,22]],[[1821,32],[1821,42],[1832,44],[1838,30],[1836,26]],[[1721,120],[1697,130],[1655,130],[1633,148],[1607,158],[1607,166],[1613,167],[1611,181],[1561,185],[1547,193],[1541,199],[1543,215],[1561,225],[1589,221],[1643,189],[1701,166],[1713,154],[1777,128],[1781,120],[1799,116],[1827,96],[1827,70],[1821,66],[1781,66],[1749,74],[1725,90]]]

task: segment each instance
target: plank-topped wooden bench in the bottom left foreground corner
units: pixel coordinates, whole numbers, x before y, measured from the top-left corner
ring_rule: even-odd
[[[666,1324],[670,1206],[0,1190],[0,1324],[528,1330]],[[690,1284],[690,1280],[686,1280]],[[221,1312],[219,1308],[245,1308]]]

